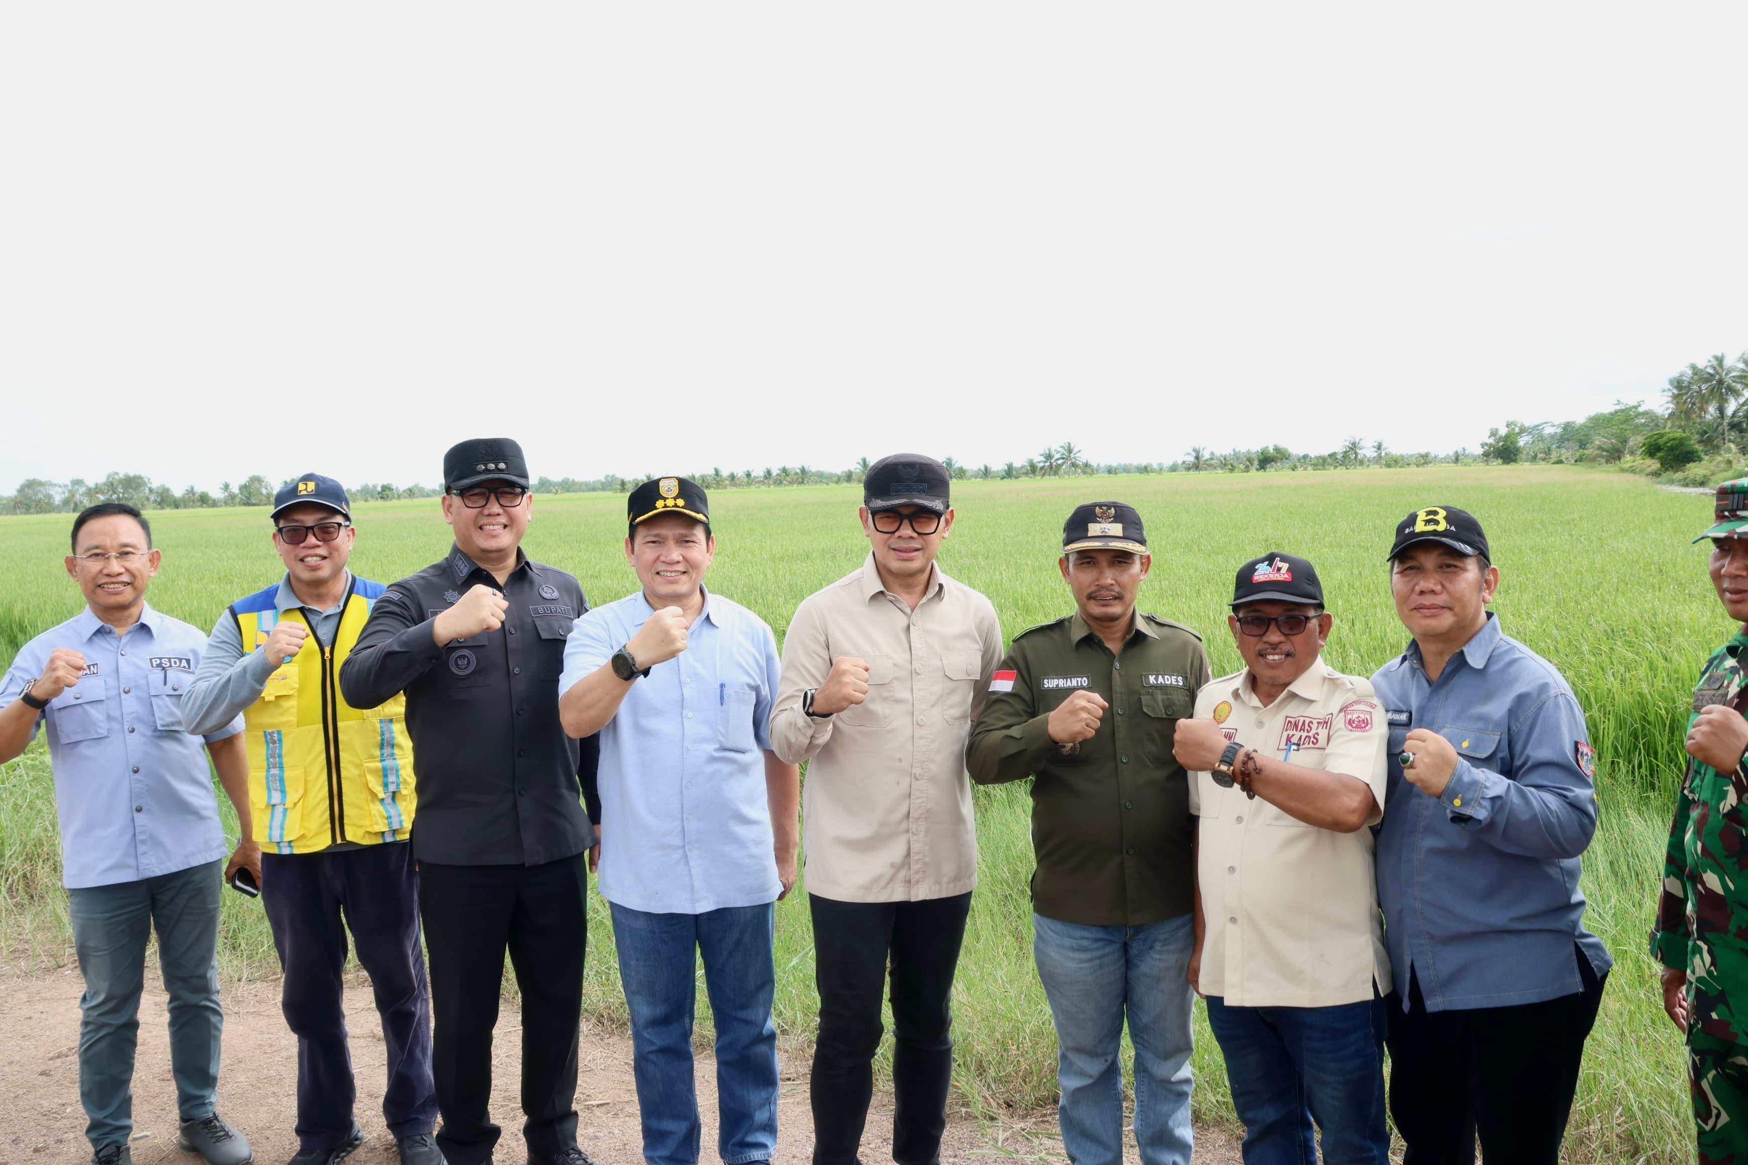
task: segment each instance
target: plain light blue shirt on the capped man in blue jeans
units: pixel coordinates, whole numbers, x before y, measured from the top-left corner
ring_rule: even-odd
[[[652,613],[638,590],[579,618],[559,693]],[[649,913],[704,913],[783,893],[764,772],[780,671],[771,627],[704,592],[685,651],[631,681],[601,728],[603,898]]]

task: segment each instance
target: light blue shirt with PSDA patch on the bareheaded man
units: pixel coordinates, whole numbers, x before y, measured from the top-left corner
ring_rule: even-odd
[[[206,632],[145,606],[117,636],[86,608],[19,650],[0,681],[0,707],[42,674],[56,648],[86,657],[79,683],[37,716],[49,725],[66,887],[138,882],[224,858],[206,749],[182,727],[182,695]],[[236,718],[205,739],[241,730]]]

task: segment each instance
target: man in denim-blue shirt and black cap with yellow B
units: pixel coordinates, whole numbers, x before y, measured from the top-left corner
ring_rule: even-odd
[[[1498,585],[1474,515],[1397,526],[1390,589],[1414,641],[1372,686],[1390,721],[1390,1114],[1409,1165],[1467,1165],[1477,1132],[1488,1165],[1554,1165],[1612,966],[1578,891],[1596,831],[1584,711],[1500,632]]]

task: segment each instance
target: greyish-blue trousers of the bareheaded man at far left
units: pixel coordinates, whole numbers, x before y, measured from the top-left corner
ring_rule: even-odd
[[[79,997],[79,1100],[91,1148],[133,1135],[133,1053],[145,989],[145,941],[157,929],[157,964],[170,994],[170,1069],[177,1114],[212,1116],[218,1099],[218,894],[224,859],[138,882],[66,891]]]

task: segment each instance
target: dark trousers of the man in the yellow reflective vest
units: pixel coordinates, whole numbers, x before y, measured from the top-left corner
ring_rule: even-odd
[[[383,1020],[383,1121],[397,1141],[437,1125],[418,896],[407,842],[260,856],[260,901],[285,973],[280,1006],[297,1036],[299,1151],[330,1149],[351,1135],[358,1093],[341,1008],[348,927]]]

